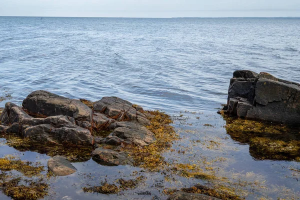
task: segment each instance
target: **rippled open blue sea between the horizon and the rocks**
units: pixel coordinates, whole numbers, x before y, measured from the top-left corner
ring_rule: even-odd
[[[300,18],[0,17],[0,90],[17,103],[47,89],[209,110],[233,70],[298,81],[299,65]]]

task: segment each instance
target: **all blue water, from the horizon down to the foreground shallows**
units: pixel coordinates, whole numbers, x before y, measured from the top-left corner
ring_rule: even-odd
[[[0,96],[10,94],[9,101],[21,104],[30,91],[47,89],[90,100],[119,96],[145,108],[162,109],[173,116],[181,137],[173,144],[174,151],[165,152],[166,159],[200,164],[203,159],[223,157],[224,161],[212,164],[219,168],[218,175],[233,182],[240,178],[262,183],[264,188],[247,199],[299,196],[300,174],[290,168],[300,165],[257,157],[249,143],[227,134],[226,121],[215,108],[226,102],[233,70],[267,71],[298,82],[299,64],[297,18],[0,17]],[[45,166],[49,158],[40,151],[19,151],[3,143],[0,156],[6,154]],[[92,159],[73,165],[78,169],[75,174],[51,178],[46,199],[166,199],[163,188],[207,183],[177,176],[176,181],[166,181],[159,172],[102,166]],[[130,175],[134,171],[146,180],[121,195],[81,189],[104,179],[112,183],[135,177]],[[150,194],[136,193],[141,191]],[[3,194],[0,198],[8,199]]]

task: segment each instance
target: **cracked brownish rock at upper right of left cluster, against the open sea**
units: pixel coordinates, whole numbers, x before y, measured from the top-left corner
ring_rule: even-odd
[[[141,112],[142,107],[133,105],[131,102],[115,96],[106,96],[96,101],[93,110],[118,121],[133,121],[142,125],[150,123],[146,115]]]

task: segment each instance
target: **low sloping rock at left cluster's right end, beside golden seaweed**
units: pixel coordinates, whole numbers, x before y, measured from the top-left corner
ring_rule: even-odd
[[[111,135],[115,135],[119,138],[126,139],[131,142],[134,139],[139,139],[147,144],[150,144],[155,140],[153,132],[137,123],[129,121],[119,121],[112,123],[109,127],[110,129],[113,129]]]

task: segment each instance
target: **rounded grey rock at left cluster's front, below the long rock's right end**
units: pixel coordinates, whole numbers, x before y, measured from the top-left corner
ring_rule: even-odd
[[[76,145],[93,145],[94,143],[89,130],[73,124],[52,129],[50,134],[53,140],[59,141],[59,143]]]

